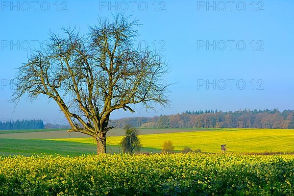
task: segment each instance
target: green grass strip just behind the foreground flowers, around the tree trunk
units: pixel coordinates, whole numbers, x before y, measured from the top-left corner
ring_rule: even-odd
[[[122,148],[118,145],[107,145],[107,153],[120,153]],[[160,152],[159,149],[142,148],[141,152]],[[82,154],[96,153],[96,145],[51,141],[51,140],[22,140],[22,139],[0,139],[0,155],[24,155],[32,154],[60,154],[62,156],[78,156]]]

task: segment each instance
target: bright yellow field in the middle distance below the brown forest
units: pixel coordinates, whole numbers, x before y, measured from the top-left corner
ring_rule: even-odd
[[[176,150],[184,147],[203,152],[220,152],[222,144],[227,152],[294,152],[292,129],[221,129],[196,132],[140,135],[143,147],[162,148],[165,141],[172,141]],[[107,144],[118,145],[123,136],[107,137]],[[92,138],[53,139],[95,144]]]

